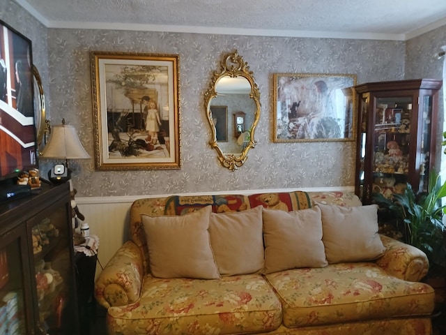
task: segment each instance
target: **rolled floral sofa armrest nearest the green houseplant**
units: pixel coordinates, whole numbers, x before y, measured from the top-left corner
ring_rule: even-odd
[[[405,281],[421,281],[429,270],[426,254],[415,246],[380,235],[384,255],[376,261],[388,274]]]

